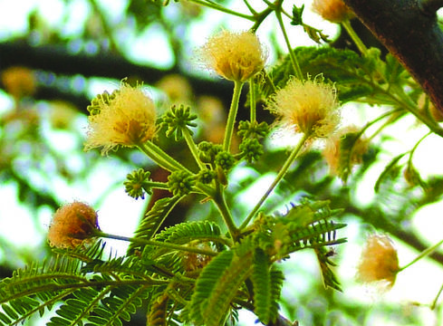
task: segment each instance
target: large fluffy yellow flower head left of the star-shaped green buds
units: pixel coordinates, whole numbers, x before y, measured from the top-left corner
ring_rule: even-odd
[[[106,154],[118,145],[137,146],[154,137],[157,118],[154,103],[140,87],[121,83],[111,97],[98,97],[97,114],[89,119],[85,150],[102,147]]]

